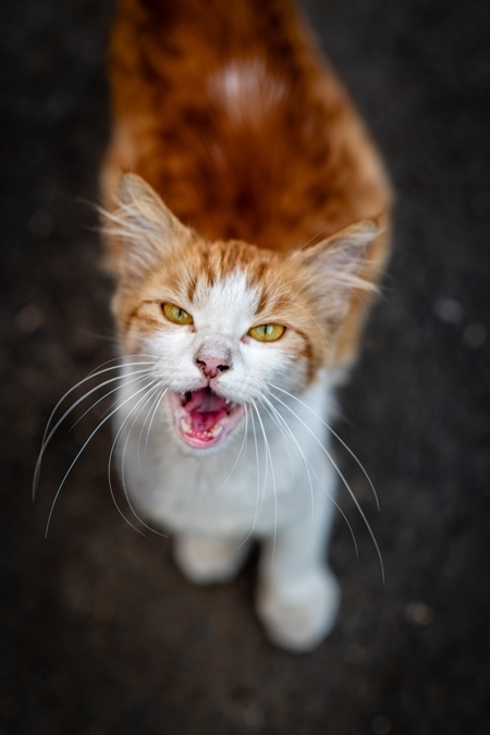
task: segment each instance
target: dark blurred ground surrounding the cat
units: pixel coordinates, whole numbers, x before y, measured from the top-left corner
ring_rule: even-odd
[[[97,270],[112,2],[2,2],[0,733],[480,735],[489,732],[489,11],[486,0],[308,0],[323,48],[388,161],[394,257],[338,430],[387,566],[342,498],[331,559],[343,605],[308,656],[273,649],[254,564],[198,589],[169,542],[114,510],[106,427],[61,431],[60,395],[112,356]],[[99,412],[99,415],[101,411]],[[66,427],[68,429],[69,427]]]

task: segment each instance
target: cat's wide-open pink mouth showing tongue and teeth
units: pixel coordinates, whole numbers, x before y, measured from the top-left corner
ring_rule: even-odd
[[[205,449],[223,441],[244,413],[243,404],[228,401],[210,388],[170,393],[175,428],[189,446]]]

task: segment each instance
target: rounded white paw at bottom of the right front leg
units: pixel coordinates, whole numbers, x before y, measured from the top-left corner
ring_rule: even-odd
[[[257,612],[277,646],[309,651],[332,629],[340,605],[340,588],[329,571],[315,571],[281,588],[262,581]]]

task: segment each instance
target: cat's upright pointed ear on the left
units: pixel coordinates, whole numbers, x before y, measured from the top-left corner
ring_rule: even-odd
[[[121,179],[117,232],[123,241],[120,272],[131,281],[140,280],[171,253],[188,242],[191,231],[173,215],[140,176]]]

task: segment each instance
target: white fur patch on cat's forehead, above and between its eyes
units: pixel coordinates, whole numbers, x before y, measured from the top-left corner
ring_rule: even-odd
[[[198,283],[194,296],[194,318],[213,330],[226,332],[245,329],[257,310],[259,293],[250,287],[243,270],[235,270],[225,278],[208,285]]]

